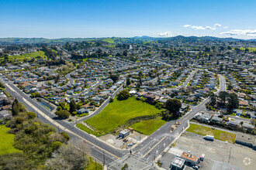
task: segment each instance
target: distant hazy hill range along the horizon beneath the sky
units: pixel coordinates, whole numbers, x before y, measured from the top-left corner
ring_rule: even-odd
[[[177,41],[177,42],[196,42],[196,41],[255,41],[256,39],[233,39],[218,38],[213,36],[174,36],[168,38],[150,37],[150,36],[134,36],[131,38],[109,37],[109,38],[61,38],[61,39],[45,39],[45,38],[0,38],[1,44],[22,44],[22,43],[65,43],[65,42],[82,42],[82,41],[103,41],[112,44],[117,43],[142,43],[152,41]]]

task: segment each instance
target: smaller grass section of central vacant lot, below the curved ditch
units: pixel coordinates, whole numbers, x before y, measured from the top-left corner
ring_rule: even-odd
[[[140,121],[136,124],[131,125],[135,131],[139,131],[140,133],[149,135],[154,131],[157,131],[162,125],[164,125],[166,121],[162,120],[161,117],[157,117],[155,119],[150,119],[147,121]]]

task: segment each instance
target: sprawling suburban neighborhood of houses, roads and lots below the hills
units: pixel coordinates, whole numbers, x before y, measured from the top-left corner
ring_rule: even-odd
[[[102,168],[252,169],[255,43],[176,39],[2,42],[1,120],[33,113]]]

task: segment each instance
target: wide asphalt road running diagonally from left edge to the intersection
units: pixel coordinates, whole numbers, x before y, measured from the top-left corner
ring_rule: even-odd
[[[21,90],[19,90],[16,86],[14,86],[11,82],[9,82],[8,80],[2,80],[2,83],[5,84],[5,89],[9,91],[9,93],[12,94],[13,97],[16,97],[17,100],[19,100],[19,102],[22,102],[22,104],[24,104],[24,106],[27,108],[27,110],[29,111],[33,111],[35,112],[37,115],[39,115],[40,120],[43,121],[46,124],[50,124],[51,126],[54,126],[55,128],[57,128],[59,131],[65,131],[66,129],[68,129],[69,131],[73,132],[73,133],[68,133],[71,136],[71,138],[75,139],[75,140],[86,140],[87,144],[91,147],[92,149],[92,156],[99,159],[100,161],[103,162],[103,151],[105,151],[105,162],[106,165],[113,162],[114,160],[116,160],[116,158],[120,158],[123,155],[126,154],[126,152],[123,151],[119,151],[116,150],[115,148],[110,147],[109,145],[106,145],[105,143],[103,143],[102,141],[97,140],[96,138],[92,137],[89,134],[86,134],[84,131],[79,130],[78,128],[74,127],[74,123],[72,122],[66,122],[63,120],[58,119],[58,117],[56,117],[54,114],[52,114],[50,112],[50,110],[47,110],[45,107],[41,106],[39,103],[37,103],[35,100],[31,99],[30,97],[28,97],[26,95],[26,93],[23,93]],[[6,85],[6,83],[9,84]],[[39,109],[40,111],[43,112],[43,114],[47,114],[47,117],[50,117],[51,120],[53,121],[49,121],[49,119],[47,119],[47,117],[43,117],[43,115],[40,114],[40,112],[38,112],[37,110],[35,110],[33,107],[31,107],[27,101],[29,101],[30,104],[33,104],[34,107],[36,107],[37,109]],[[54,123],[57,122],[56,123]],[[58,124],[62,125],[65,129],[60,129],[58,128]]]

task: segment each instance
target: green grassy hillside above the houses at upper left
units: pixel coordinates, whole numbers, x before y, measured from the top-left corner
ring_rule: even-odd
[[[8,56],[9,61],[23,61],[24,59],[32,59],[36,58],[36,56],[40,56],[42,59],[47,59],[47,56],[44,55],[43,51],[33,52],[33,53],[26,53],[22,54],[20,56]],[[0,59],[0,61],[3,61],[3,57]]]

